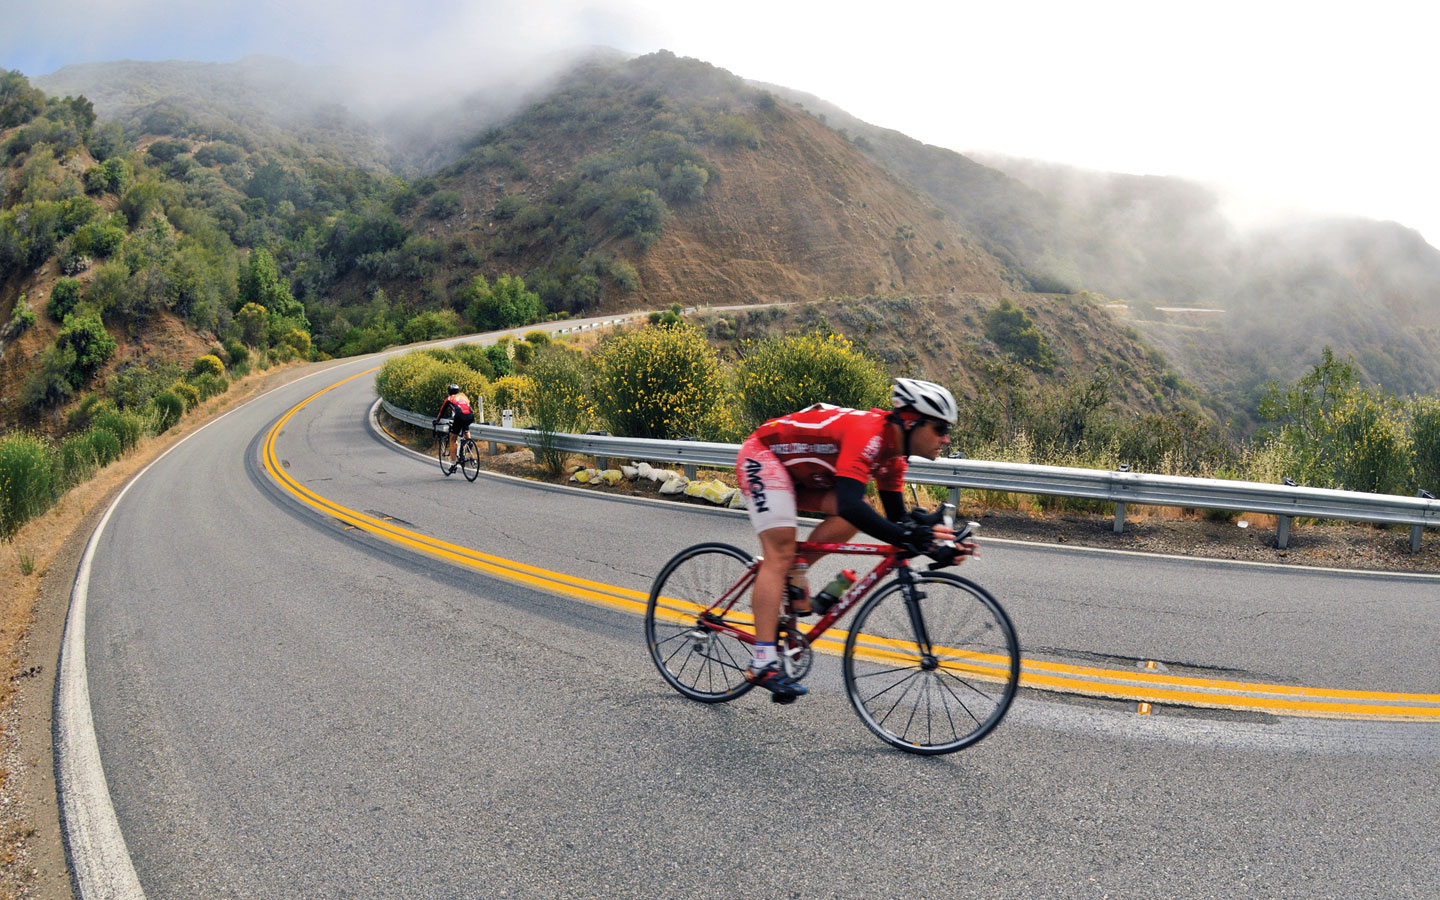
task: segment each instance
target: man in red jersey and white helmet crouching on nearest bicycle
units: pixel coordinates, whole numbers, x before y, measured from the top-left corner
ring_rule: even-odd
[[[798,510],[827,516],[809,534],[815,543],[845,543],[864,531],[926,553],[955,537],[943,524],[910,521],[901,494],[906,461],[935,459],[950,444],[955,397],[933,382],[896,379],[890,399],[890,412],[816,403],[770,419],[740,446],[736,474],[763,553],[752,599],[756,645],[747,675],[778,701],[808,693],[785,672],[775,649],[785,592],[796,613],[809,615],[804,570],[822,556],[796,554]],[[884,516],[865,501],[871,480]]]

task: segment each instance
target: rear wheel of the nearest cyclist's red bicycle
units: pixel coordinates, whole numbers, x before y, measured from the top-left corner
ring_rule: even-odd
[[[752,645],[719,628],[753,636],[755,566],[755,557],[739,547],[706,543],[681,550],[655,577],[645,606],[645,642],[655,668],[685,697],[721,703],[755,687],[744,677]]]

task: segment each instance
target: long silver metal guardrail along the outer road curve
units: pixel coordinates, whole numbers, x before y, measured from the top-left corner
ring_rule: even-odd
[[[382,406],[402,422],[431,428],[432,416],[397,409],[384,400],[382,400]],[[540,432],[527,428],[472,425],[469,433],[477,441],[490,442],[491,452],[495,452],[501,444],[530,448],[540,444]],[[691,478],[696,477],[696,468],[701,465],[706,468],[734,468],[734,458],[740,449],[734,444],[706,441],[647,441],[612,435],[567,433],[553,435],[550,445],[570,454],[595,456],[599,468],[609,468],[608,461],[612,456],[680,462]],[[1333,491],[1292,484],[1143,475],[1125,471],[1107,472],[986,459],[912,459],[906,480],[948,487],[952,503],[959,503],[960,488],[1079,497],[1113,503],[1116,533],[1125,528],[1126,504],[1264,513],[1279,518],[1276,546],[1280,549],[1289,546],[1290,521],[1297,516],[1410,526],[1411,550],[1420,550],[1423,528],[1440,527],[1440,500]]]

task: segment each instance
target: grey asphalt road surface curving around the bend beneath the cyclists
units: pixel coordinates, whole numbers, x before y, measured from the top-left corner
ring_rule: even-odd
[[[1434,897],[1440,729],[1027,696],[981,744],[888,749],[838,661],[789,707],[671,691],[639,618],[419,557],[275,487],[285,410],[206,428],[115,510],[89,685],[151,899]],[[288,472],[426,534],[647,589],[743,517],[482,475],[310,403]],[[1440,583],[991,543],[1027,655],[1440,691]]]

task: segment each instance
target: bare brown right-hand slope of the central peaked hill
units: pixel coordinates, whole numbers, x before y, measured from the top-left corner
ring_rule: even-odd
[[[759,150],[711,150],[721,177],[634,259],[647,300],[804,301],[998,294],[1004,268],[929,202],[804,112],[778,108]]]

